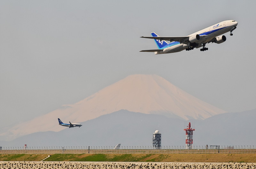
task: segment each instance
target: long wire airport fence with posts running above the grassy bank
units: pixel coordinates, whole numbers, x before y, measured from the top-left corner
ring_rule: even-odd
[[[253,145],[240,146],[55,146],[55,147],[0,147],[0,154],[236,154],[256,153]]]

